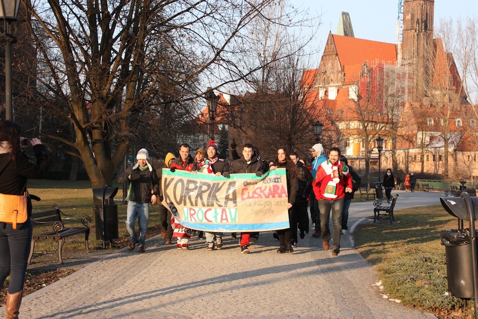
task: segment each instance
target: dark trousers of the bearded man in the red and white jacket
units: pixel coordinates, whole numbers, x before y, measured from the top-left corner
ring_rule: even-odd
[[[342,235],[342,209],[344,208],[344,199],[319,200],[320,210],[320,230],[324,241],[330,240],[330,230],[328,227],[330,211],[332,211],[332,246],[340,248],[340,235]]]

